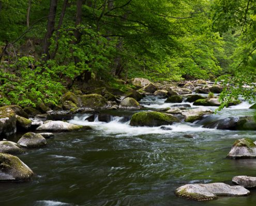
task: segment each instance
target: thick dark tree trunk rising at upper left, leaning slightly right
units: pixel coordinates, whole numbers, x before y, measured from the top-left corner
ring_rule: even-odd
[[[43,44],[43,53],[46,55],[46,57],[44,58],[45,61],[50,59],[49,47],[51,45],[50,39],[52,38],[52,35],[54,32],[57,3],[58,3],[58,0],[51,0],[50,2],[47,31],[46,31],[46,36],[44,37],[44,44]]]

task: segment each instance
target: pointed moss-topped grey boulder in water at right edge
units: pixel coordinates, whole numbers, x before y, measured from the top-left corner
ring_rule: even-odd
[[[256,145],[248,138],[236,140],[227,158],[256,158]]]

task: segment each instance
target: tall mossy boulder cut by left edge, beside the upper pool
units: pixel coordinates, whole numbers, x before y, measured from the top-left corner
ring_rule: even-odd
[[[16,133],[16,114],[9,106],[0,107],[0,135],[9,136]]]

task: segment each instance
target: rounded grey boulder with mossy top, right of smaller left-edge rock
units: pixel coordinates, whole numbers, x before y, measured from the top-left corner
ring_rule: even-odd
[[[46,139],[41,135],[33,132],[25,133],[18,144],[27,148],[38,148],[46,146]]]

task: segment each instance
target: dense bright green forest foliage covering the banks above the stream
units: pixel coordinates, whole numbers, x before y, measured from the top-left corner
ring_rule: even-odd
[[[256,2],[1,0],[0,105],[58,104],[81,84],[216,78],[251,96]],[[252,84],[253,85],[253,84]],[[229,98],[231,98],[231,96]],[[232,97],[233,98],[233,97]]]

